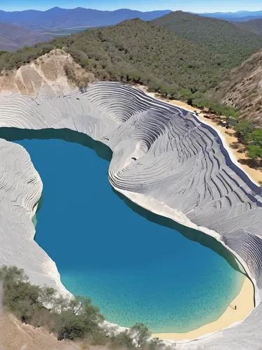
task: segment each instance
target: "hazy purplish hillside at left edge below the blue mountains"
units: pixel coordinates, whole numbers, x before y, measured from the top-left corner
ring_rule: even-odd
[[[41,41],[50,41],[50,34],[36,33],[27,29],[0,23],[0,50],[15,51],[23,46],[31,46]]]

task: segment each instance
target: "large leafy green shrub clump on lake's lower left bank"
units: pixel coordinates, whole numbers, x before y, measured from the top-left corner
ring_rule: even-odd
[[[57,333],[57,339],[83,339],[93,335],[96,344],[102,339],[102,335],[98,335],[102,332],[98,324],[104,317],[90,298],[69,300],[56,295],[53,288],[34,286],[18,267],[2,267],[0,278],[4,281],[4,308],[22,322],[46,326]]]

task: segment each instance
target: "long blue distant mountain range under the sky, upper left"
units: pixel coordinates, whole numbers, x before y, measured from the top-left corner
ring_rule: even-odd
[[[73,9],[54,7],[46,11],[24,10],[6,12],[0,10],[0,22],[34,30],[82,26],[99,27],[116,25],[124,20],[131,20],[134,18],[151,21],[170,12],[171,10],[140,12],[125,8],[114,11],[102,11],[81,7]]]

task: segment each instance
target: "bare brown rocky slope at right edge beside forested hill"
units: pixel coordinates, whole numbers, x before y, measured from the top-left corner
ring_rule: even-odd
[[[227,72],[214,94],[222,103],[235,106],[240,118],[262,126],[262,51]]]

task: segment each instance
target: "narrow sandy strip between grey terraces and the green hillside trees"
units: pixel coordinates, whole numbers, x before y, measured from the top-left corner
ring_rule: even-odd
[[[228,144],[228,148],[230,148],[231,155],[233,155],[234,158],[237,160],[237,165],[240,168],[242,168],[244,170],[244,172],[246,172],[251,177],[251,179],[253,181],[255,181],[256,183],[258,183],[259,181],[262,181],[262,169],[253,169],[247,165],[242,165],[242,164],[240,164],[240,162],[238,162],[238,160],[247,160],[249,158],[247,157],[247,155],[244,152],[243,153],[237,152],[237,151],[241,151],[243,149],[243,147],[241,145],[239,145],[237,148],[232,148],[230,146],[233,143],[238,144],[238,140],[234,136],[235,132],[233,129],[227,130],[226,127],[221,127],[220,125],[217,125],[214,120],[211,120],[211,119],[204,117],[204,115],[206,113],[203,113],[203,111],[201,111],[200,109],[198,109],[196,107],[189,106],[188,104],[186,104],[186,102],[181,102],[181,101],[172,100],[172,99],[163,99],[162,97],[158,97],[158,94],[155,94],[153,92],[147,92],[145,86],[136,85],[135,87],[139,88],[140,90],[143,90],[147,95],[154,97],[155,99],[160,99],[161,101],[165,101],[165,102],[168,102],[170,104],[174,104],[174,106],[179,106],[181,108],[187,109],[188,111],[198,111],[198,113],[200,113],[198,116],[198,119],[200,121],[212,126],[216,131],[219,131],[219,133],[223,136],[223,139]]]

